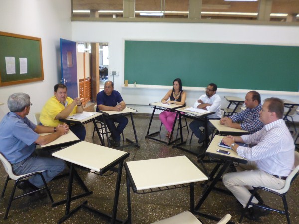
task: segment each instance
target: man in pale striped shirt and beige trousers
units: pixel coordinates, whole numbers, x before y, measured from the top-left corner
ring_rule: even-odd
[[[223,176],[223,184],[234,194],[237,200],[246,206],[252,187],[264,186],[281,189],[285,185],[287,176],[294,169],[294,142],[284,122],[284,103],[278,98],[267,98],[260,111],[260,120],[264,127],[262,130],[243,136],[226,136],[223,143],[231,146],[239,156],[246,158],[248,163],[237,171]],[[235,142],[251,144],[253,147],[241,147]],[[255,204],[262,204],[254,197]],[[258,220],[265,216],[269,210],[252,207],[246,211],[245,216]]]

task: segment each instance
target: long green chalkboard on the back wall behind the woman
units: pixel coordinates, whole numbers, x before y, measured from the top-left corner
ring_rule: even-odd
[[[125,80],[147,85],[294,91],[299,47],[250,44],[125,41]]]

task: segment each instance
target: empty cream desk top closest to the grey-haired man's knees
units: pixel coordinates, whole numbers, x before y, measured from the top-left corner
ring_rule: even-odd
[[[101,169],[126,154],[128,153],[81,141],[54,152],[52,156],[100,172]]]

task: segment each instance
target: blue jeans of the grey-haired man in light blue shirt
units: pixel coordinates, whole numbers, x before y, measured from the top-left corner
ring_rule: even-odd
[[[44,170],[44,172],[42,172],[42,175],[47,183],[65,169],[65,163],[63,160],[53,157],[36,156],[35,153],[32,153],[23,161],[11,165],[12,170],[16,175]],[[31,177],[29,179],[29,182],[38,188],[44,185],[39,175]]]

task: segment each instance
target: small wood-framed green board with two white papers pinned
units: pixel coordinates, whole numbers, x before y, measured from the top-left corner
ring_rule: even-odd
[[[20,66],[20,61],[25,66]],[[13,72],[7,69],[7,64],[14,68]],[[43,79],[41,39],[0,32],[0,86]]]

